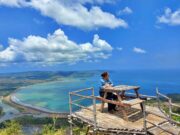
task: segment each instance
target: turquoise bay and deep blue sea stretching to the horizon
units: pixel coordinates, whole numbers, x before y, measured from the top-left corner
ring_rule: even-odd
[[[88,72],[88,71],[87,71]],[[138,85],[139,92],[146,95],[155,95],[158,87],[163,94],[180,93],[179,70],[148,70],[148,71],[109,71],[114,85]],[[32,106],[49,109],[56,112],[69,112],[70,91],[94,87],[95,94],[99,93],[100,71],[88,77],[74,77],[65,81],[54,81],[35,84],[21,88],[15,96],[22,102]],[[133,91],[132,91],[133,92]],[[88,92],[84,94],[89,94]],[[90,104],[83,101],[82,104]]]

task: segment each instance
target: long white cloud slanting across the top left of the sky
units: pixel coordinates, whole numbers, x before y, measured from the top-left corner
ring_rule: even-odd
[[[115,0],[1,0],[1,5],[31,7],[42,15],[53,18],[58,24],[69,25],[81,29],[97,29],[100,27],[127,27],[128,24],[109,12],[103,11],[98,4]],[[85,3],[91,3],[90,8]]]

